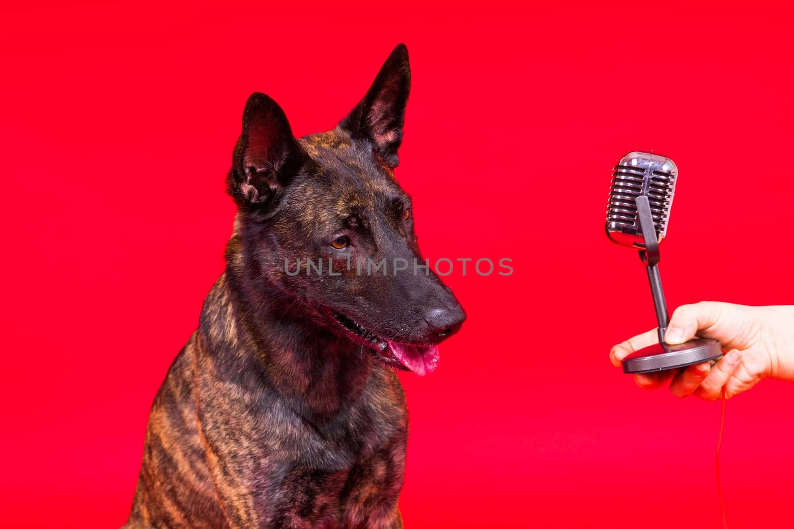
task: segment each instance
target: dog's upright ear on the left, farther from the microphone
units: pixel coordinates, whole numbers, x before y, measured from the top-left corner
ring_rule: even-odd
[[[265,94],[251,94],[234,147],[229,194],[244,207],[268,203],[295,174],[301,153],[278,103]]]

